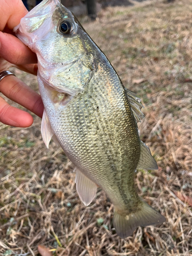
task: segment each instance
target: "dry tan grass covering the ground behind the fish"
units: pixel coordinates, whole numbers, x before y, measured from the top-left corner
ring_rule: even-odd
[[[46,149],[34,116],[29,129],[0,126],[1,255],[37,255],[39,244],[59,256],[192,255],[191,10],[191,0],[150,1],[108,8],[92,24],[82,20],[124,85],[144,102],[140,136],[159,170],[138,172],[136,183],[167,222],[120,239],[104,192],[98,189],[83,206],[73,165],[53,142]],[[17,76],[37,90],[35,77]]]

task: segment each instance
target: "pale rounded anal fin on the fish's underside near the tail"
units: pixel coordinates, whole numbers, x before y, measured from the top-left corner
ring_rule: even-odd
[[[78,169],[76,169],[75,183],[81,201],[84,205],[89,205],[97,193],[97,185]]]

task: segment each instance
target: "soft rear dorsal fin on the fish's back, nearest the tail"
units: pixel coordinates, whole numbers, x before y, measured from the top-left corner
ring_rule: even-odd
[[[157,162],[153,158],[150,148],[142,141],[140,141],[140,148],[141,151],[137,169],[157,170]]]

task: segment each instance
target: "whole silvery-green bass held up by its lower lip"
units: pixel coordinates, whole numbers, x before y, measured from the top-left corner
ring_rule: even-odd
[[[126,89],[108,58],[59,0],[44,0],[14,28],[38,59],[44,103],[41,134],[76,167],[76,189],[89,205],[102,188],[114,205],[121,238],[165,218],[137,194],[136,169],[158,169],[140,140],[141,100]]]

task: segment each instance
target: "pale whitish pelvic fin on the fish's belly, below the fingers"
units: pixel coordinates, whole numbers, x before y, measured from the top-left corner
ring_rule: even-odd
[[[46,144],[47,148],[49,148],[49,142],[53,134],[54,133],[51,128],[46,110],[44,109],[44,114],[42,115],[42,121],[41,121],[41,135],[42,135],[42,140]]]

